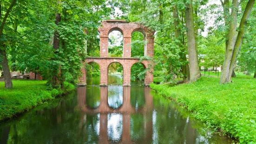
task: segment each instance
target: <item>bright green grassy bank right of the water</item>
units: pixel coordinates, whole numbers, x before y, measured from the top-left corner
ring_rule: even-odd
[[[240,143],[256,144],[256,79],[232,80],[220,85],[218,78],[202,77],[193,84],[150,86],[208,126],[239,138]]]

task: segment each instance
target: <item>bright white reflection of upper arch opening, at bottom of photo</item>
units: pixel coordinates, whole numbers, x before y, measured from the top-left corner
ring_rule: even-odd
[[[107,115],[107,136],[111,142],[118,143],[121,141],[123,133],[123,116],[122,114]]]

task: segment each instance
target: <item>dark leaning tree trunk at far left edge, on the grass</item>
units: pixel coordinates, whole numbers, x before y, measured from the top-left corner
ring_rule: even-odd
[[[2,61],[1,65],[3,66],[3,72],[4,72],[4,79],[5,79],[5,88],[6,89],[12,89],[13,88],[13,82],[11,78],[10,69],[8,66],[8,60],[5,50],[0,50],[0,54],[2,55]]]

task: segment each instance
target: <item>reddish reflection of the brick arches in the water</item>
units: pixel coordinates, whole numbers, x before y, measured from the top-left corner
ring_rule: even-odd
[[[107,93],[108,88],[106,86],[100,86],[100,105],[97,109],[88,109],[86,105],[83,105],[83,99],[86,99],[86,89],[85,87],[78,87],[78,100],[81,100],[82,107],[80,107],[79,103],[78,106],[86,115],[92,113],[99,113],[99,139],[98,143],[101,144],[108,144],[111,139],[109,139],[107,135],[108,131],[108,116],[106,113],[116,113],[118,115],[122,115],[122,136],[120,143],[133,143],[131,139],[131,114],[135,113],[135,110],[131,107],[131,87],[130,86],[123,86],[123,102],[124,104],[118,108],[118,110],[113,110],[108,107],[108,99]],[[140,140],[142,143],[151,143],[152,140],[152,108],[153,108],[153,98],[149,93],[150,88],[144,87],[144,97],[146,99],[145,108],[141,111],[137,111],[141,113],[144,117],[144,129],[145,129],[145,137],[144,139]],[[81,122],[84,123],[86,118],[82,118]],[[135,131],[136,132],[136,131]],[[134,132],[133,132],[134,133]],[[120,137],[118,137],[120,139]],[[118,141],[119,142],[119,141]],[[138,141],[137,141],[138,142]]]

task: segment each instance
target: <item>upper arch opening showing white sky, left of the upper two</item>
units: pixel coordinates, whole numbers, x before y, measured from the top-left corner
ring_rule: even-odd
[[[124,37],[119,29],[113,29],[108,34],[108,57],[123,57]]]

